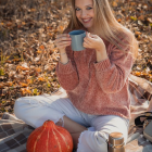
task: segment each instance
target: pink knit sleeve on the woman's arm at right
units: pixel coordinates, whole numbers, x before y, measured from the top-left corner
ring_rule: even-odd
[[[94,63],[96,77],[105,93],[115,93],[125,86],[134,60],[130,48],[124,52],[114,45],[110,45],[107,49],[111,51],[110,56],[104,61]]]

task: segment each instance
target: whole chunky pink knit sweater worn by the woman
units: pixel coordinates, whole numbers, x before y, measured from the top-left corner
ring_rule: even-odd
[[[109,59],[99,63],[96,50],[72,51],[72,48],[67,47],[69,62],[59,62],[56,65],[59,83],[79,111],[130,118],[128,75],[132,56],[107,41],[104,43]]]

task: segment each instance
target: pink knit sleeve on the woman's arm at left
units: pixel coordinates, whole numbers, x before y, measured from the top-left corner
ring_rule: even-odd
[[[68,51],[69,49],[67,48],[66,52],[69,59],[68,63],[62,64],[61,62],[58,62],[55,72],[56,72],[59,83],[63,87],[63,89],[71,91],[76,88],[79,80],[78,80],[75,63]]]

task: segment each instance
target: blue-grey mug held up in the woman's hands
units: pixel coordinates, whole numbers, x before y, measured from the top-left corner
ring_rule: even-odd
[[[86,37],[85,30],[73,30],[69,33],[72,38],[72,50],[73,51],[81,51],[85,50],[83,47],[84,38]]]

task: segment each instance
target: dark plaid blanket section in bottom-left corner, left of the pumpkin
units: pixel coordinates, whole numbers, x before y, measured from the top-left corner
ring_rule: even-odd
[[[33,130],[15,116],[4,113],[0,119],[0,152],[26,152],[26,141]]]

